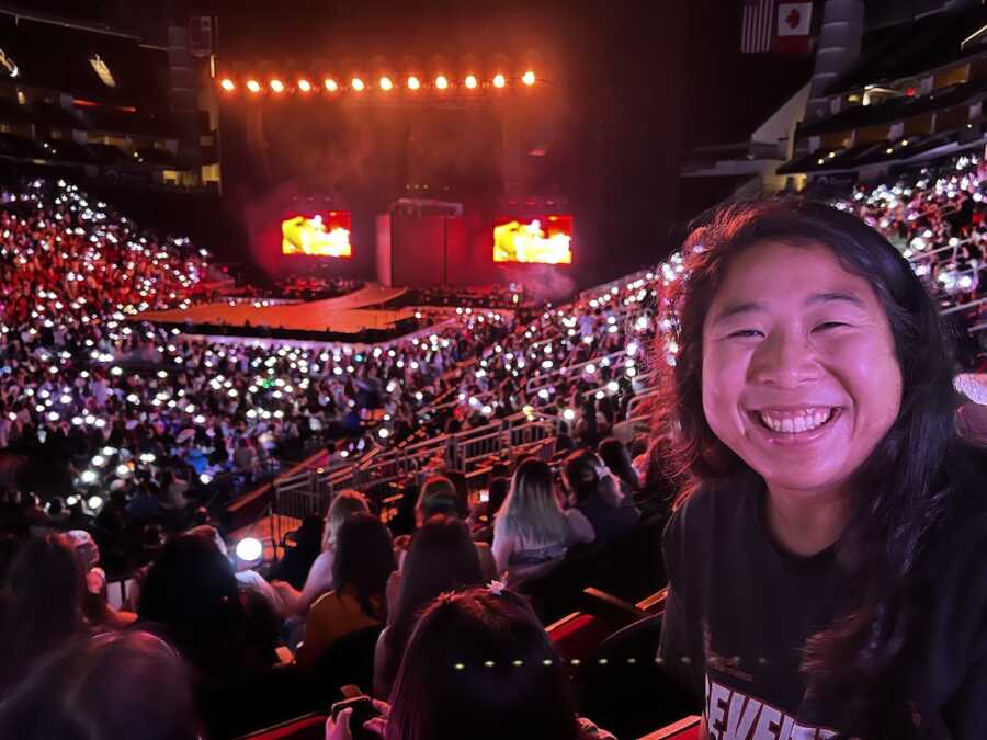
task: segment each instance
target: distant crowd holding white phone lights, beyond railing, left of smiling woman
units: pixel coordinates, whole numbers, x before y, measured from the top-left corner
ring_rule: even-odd
[[[568,411],[593,442],[597,419],[613,424],[629,400],[634,352],[529,382],[651,330],[624,326],[647,293],[636,285],[567,311],[461,309],[427,339],[365,354],[191,341],[134,320],[208,299],[207,254],[188,240],[140,231],[64,181],[4,192],[0,228],[0,489],[19,491],[0,519],[90,531],[115,573],[139,567],[160,530],[206,521],[203,508],[320,446],[343,465],[525,409]]]

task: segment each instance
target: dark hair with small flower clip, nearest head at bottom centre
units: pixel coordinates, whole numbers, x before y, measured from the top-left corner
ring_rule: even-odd
[[[506,590],[432,602],[389,698],[387,740],[579,737],[561,661],[531,606]]]

